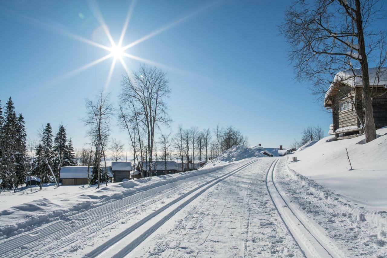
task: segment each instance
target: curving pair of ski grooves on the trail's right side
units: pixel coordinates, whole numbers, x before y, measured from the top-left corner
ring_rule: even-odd
[[[322,243],[315,236],[300,217],[296,215],[296,213],[291,209],[288,202],[284,199],[281,191],[278,190],[276,184],[274,183],[274,171],[277,166],[279,159],[275,160],[269,170],[266,173],[266,188],[267,192],[270,195],[270,198],[276,207],[276,210],[281,217],[284,225],[288,229],[289,233],[292,235],[293,239],[297,243],[301,252],[305,257],[337,257],[336,253],[331,253],[329,251],[329,247],[326,244]],[[268,178],[270,180],[268,180]],[[270,190],[272,188],[272,191]],[[273,191],[274,190],[274,191]],[[280,208],[279,208],[280,207]],[[298,241],[296,240],[298,239]],[[303,248],[301,248],[301,245]],[[333,256],[335,255],[335,256]]]

